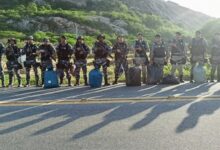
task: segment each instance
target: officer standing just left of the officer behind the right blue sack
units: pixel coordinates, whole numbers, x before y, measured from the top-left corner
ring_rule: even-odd
[[[90,52],[89,47],[84,43],[84,37],[79,36],[77,38],[76,44],[74,46],[74,55],[75,55],[75,76],[76,76],[76,84],[79,85],[80,79],[80,69],[83,71],[83,78],[85,86],[88,85],[87,81],[87,56]]]

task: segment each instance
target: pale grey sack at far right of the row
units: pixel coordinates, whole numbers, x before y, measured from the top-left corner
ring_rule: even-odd
[[[193,79],[196,83],[205,83],[206,79],[206,70],[203,65],[197,64],[193,68]]]

